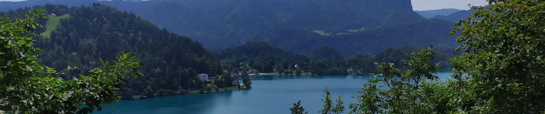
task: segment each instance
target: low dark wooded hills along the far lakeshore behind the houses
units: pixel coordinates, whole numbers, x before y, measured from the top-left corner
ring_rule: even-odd
[[[261,73],[301,74],[308,72],[317,75],[347,75],[348,73],[374,73],[375,63],[393,63],[399,65],[401,59],[407,57],[417,49],[403,46],[401,48],[386,48],[377,55],[357,55],[344,57],[340,52],[323,47],[311,51],[308,55],[299,55],[287,52],[265,42],[247,42],[237,48],[212,50],[215,58],[221,58],[223,69],[245,70],[256,69]],[[440,63],[449,63],[449,57],[459,55],[460,52],[447,49],[437,49],[437,58]],[[295,65],[298,67],[295,68]],[[449,65],[443,65],[449,68]],[[300,70],[301,73],[298,73]],[[284,72],[283,72],[284,71]]]

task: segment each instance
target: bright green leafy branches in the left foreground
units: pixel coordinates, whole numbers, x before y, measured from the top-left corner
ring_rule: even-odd
[[[121,53],[112,62],[100,59],[102,67],[64,80],[53,68],[42,66],[37,55],[43,50],[33,47],[33,35],[42,27],[36,18],[47,18],[34,9],[24,18],[0,17],[0,112],[2,113],[89,113],[102,110],[102,104],[119,100],[125,77],[137,77],[139,62],[130,53]],[[32,15],[32,17],[31,17]],[[71,70],[77,68],[68,69]],[[76,105],[86,105],[79,108]],[[5,111],[5,112],[4,112]]]

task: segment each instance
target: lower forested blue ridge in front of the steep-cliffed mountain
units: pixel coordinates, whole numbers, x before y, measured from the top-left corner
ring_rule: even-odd
[[[376,55],[386,48],[402,46],[422,47],[434,45],[438,49],[456,47],[453,43],[456,35],[449,35],[454,23],[440,19],[384,26],[349,32],[349,35],[321,36],[318,33],[296,30],[289,26],[278,25],[274,30],[284,34],[265,34],[269,43],[293,52],[306,53],[322,46],[331,46],[346,56],[358,54]],[[276,43],[278,42],[278,43]],[[280,43],[281,42],[281,43]]]

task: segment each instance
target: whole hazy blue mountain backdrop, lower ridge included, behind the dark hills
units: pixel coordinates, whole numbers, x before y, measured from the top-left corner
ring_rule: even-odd
[[[405,45],[436,45],[438,48],[456,45],[456,36],[448,35],[454,28],[452,22],[422,17],[413,11],[410,0],[29,0],[0,2],[0,10],[92,3],[134,12],[160,28],[202,42],[208,49],[265,41],[299,53],[330,46],[350,56],[375,54],[385,48]],[[312,31],[332,35],[322,36]]]

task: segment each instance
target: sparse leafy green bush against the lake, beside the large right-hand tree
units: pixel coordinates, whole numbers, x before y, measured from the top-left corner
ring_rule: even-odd
[[[359,91],[363,95],[354,97],[359,103],[350,104],[350,113],[433,113],[438,110],[430,99],[435,91],[427,90],[430,82],[438,80],[433,74],[439,69],[439,64],[431,62],[435,51],[430,50],[426,47],[404,58],[405,70],[381,63],[377,68],[380,73]],[[379,82],[384,85],[378,86]]]

